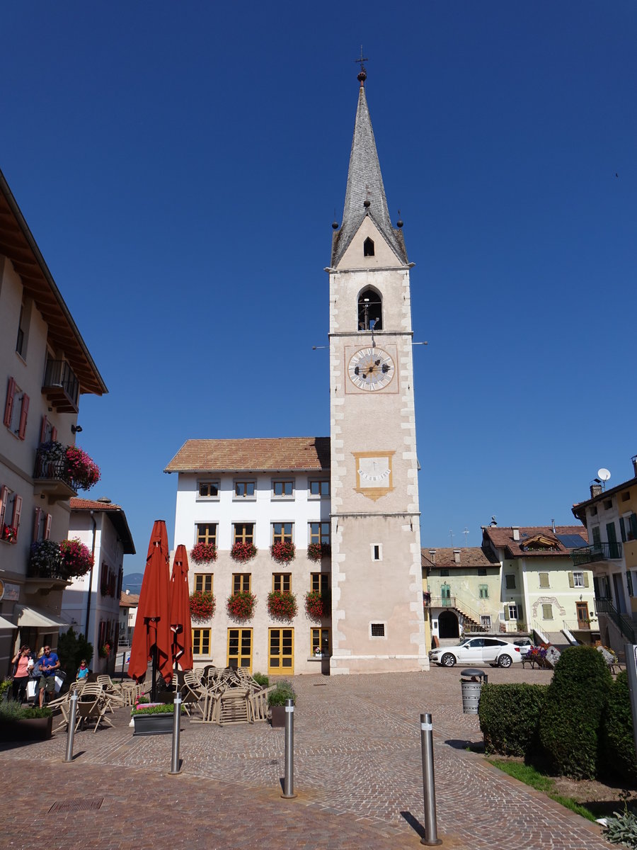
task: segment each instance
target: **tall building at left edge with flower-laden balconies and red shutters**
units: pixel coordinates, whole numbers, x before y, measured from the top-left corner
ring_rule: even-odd
[[[66,581],[54,570],[29,570],[31,543],[68,537],[69,500],[78,482],[60,450],[63,455],[65,446],[75,445],[80,396],[107,390],[2,173],[0,382],[4,674],[16,645],[55,646],[65,625],[59,613]]]

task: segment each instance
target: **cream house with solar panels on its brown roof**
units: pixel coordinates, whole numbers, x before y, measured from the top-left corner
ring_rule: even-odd
[[[482,528],[482,548],[500,565],[500,631],[536,632],[558,645],[599,637],[592,573],[571,558],[587,543],[582,525]]]

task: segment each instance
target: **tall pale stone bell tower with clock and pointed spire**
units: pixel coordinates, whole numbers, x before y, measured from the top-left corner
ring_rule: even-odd
[[[361,63],[330,267],[330,673],[429,668],[409,263],[392,227]]]

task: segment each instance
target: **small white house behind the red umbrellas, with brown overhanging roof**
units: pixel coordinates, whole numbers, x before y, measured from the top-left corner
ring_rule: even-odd
[[[91,670],[112,672],[120,632],[124,555],[135,554],[126,513],[110,499],[71,499],[69,536],[93,553],[93,569],[71,579],[62,598],[62,619],[93,644]],[[105,655],[104,646],[111,652]]]

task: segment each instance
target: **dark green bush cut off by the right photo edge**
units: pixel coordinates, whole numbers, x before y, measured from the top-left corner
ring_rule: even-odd
[[[601,739],[602,751],[606,755],[600,767],[630,785],[636,785],[633,716],[630,711],[629,677],[625,670],[617,675],[608,694]]]

